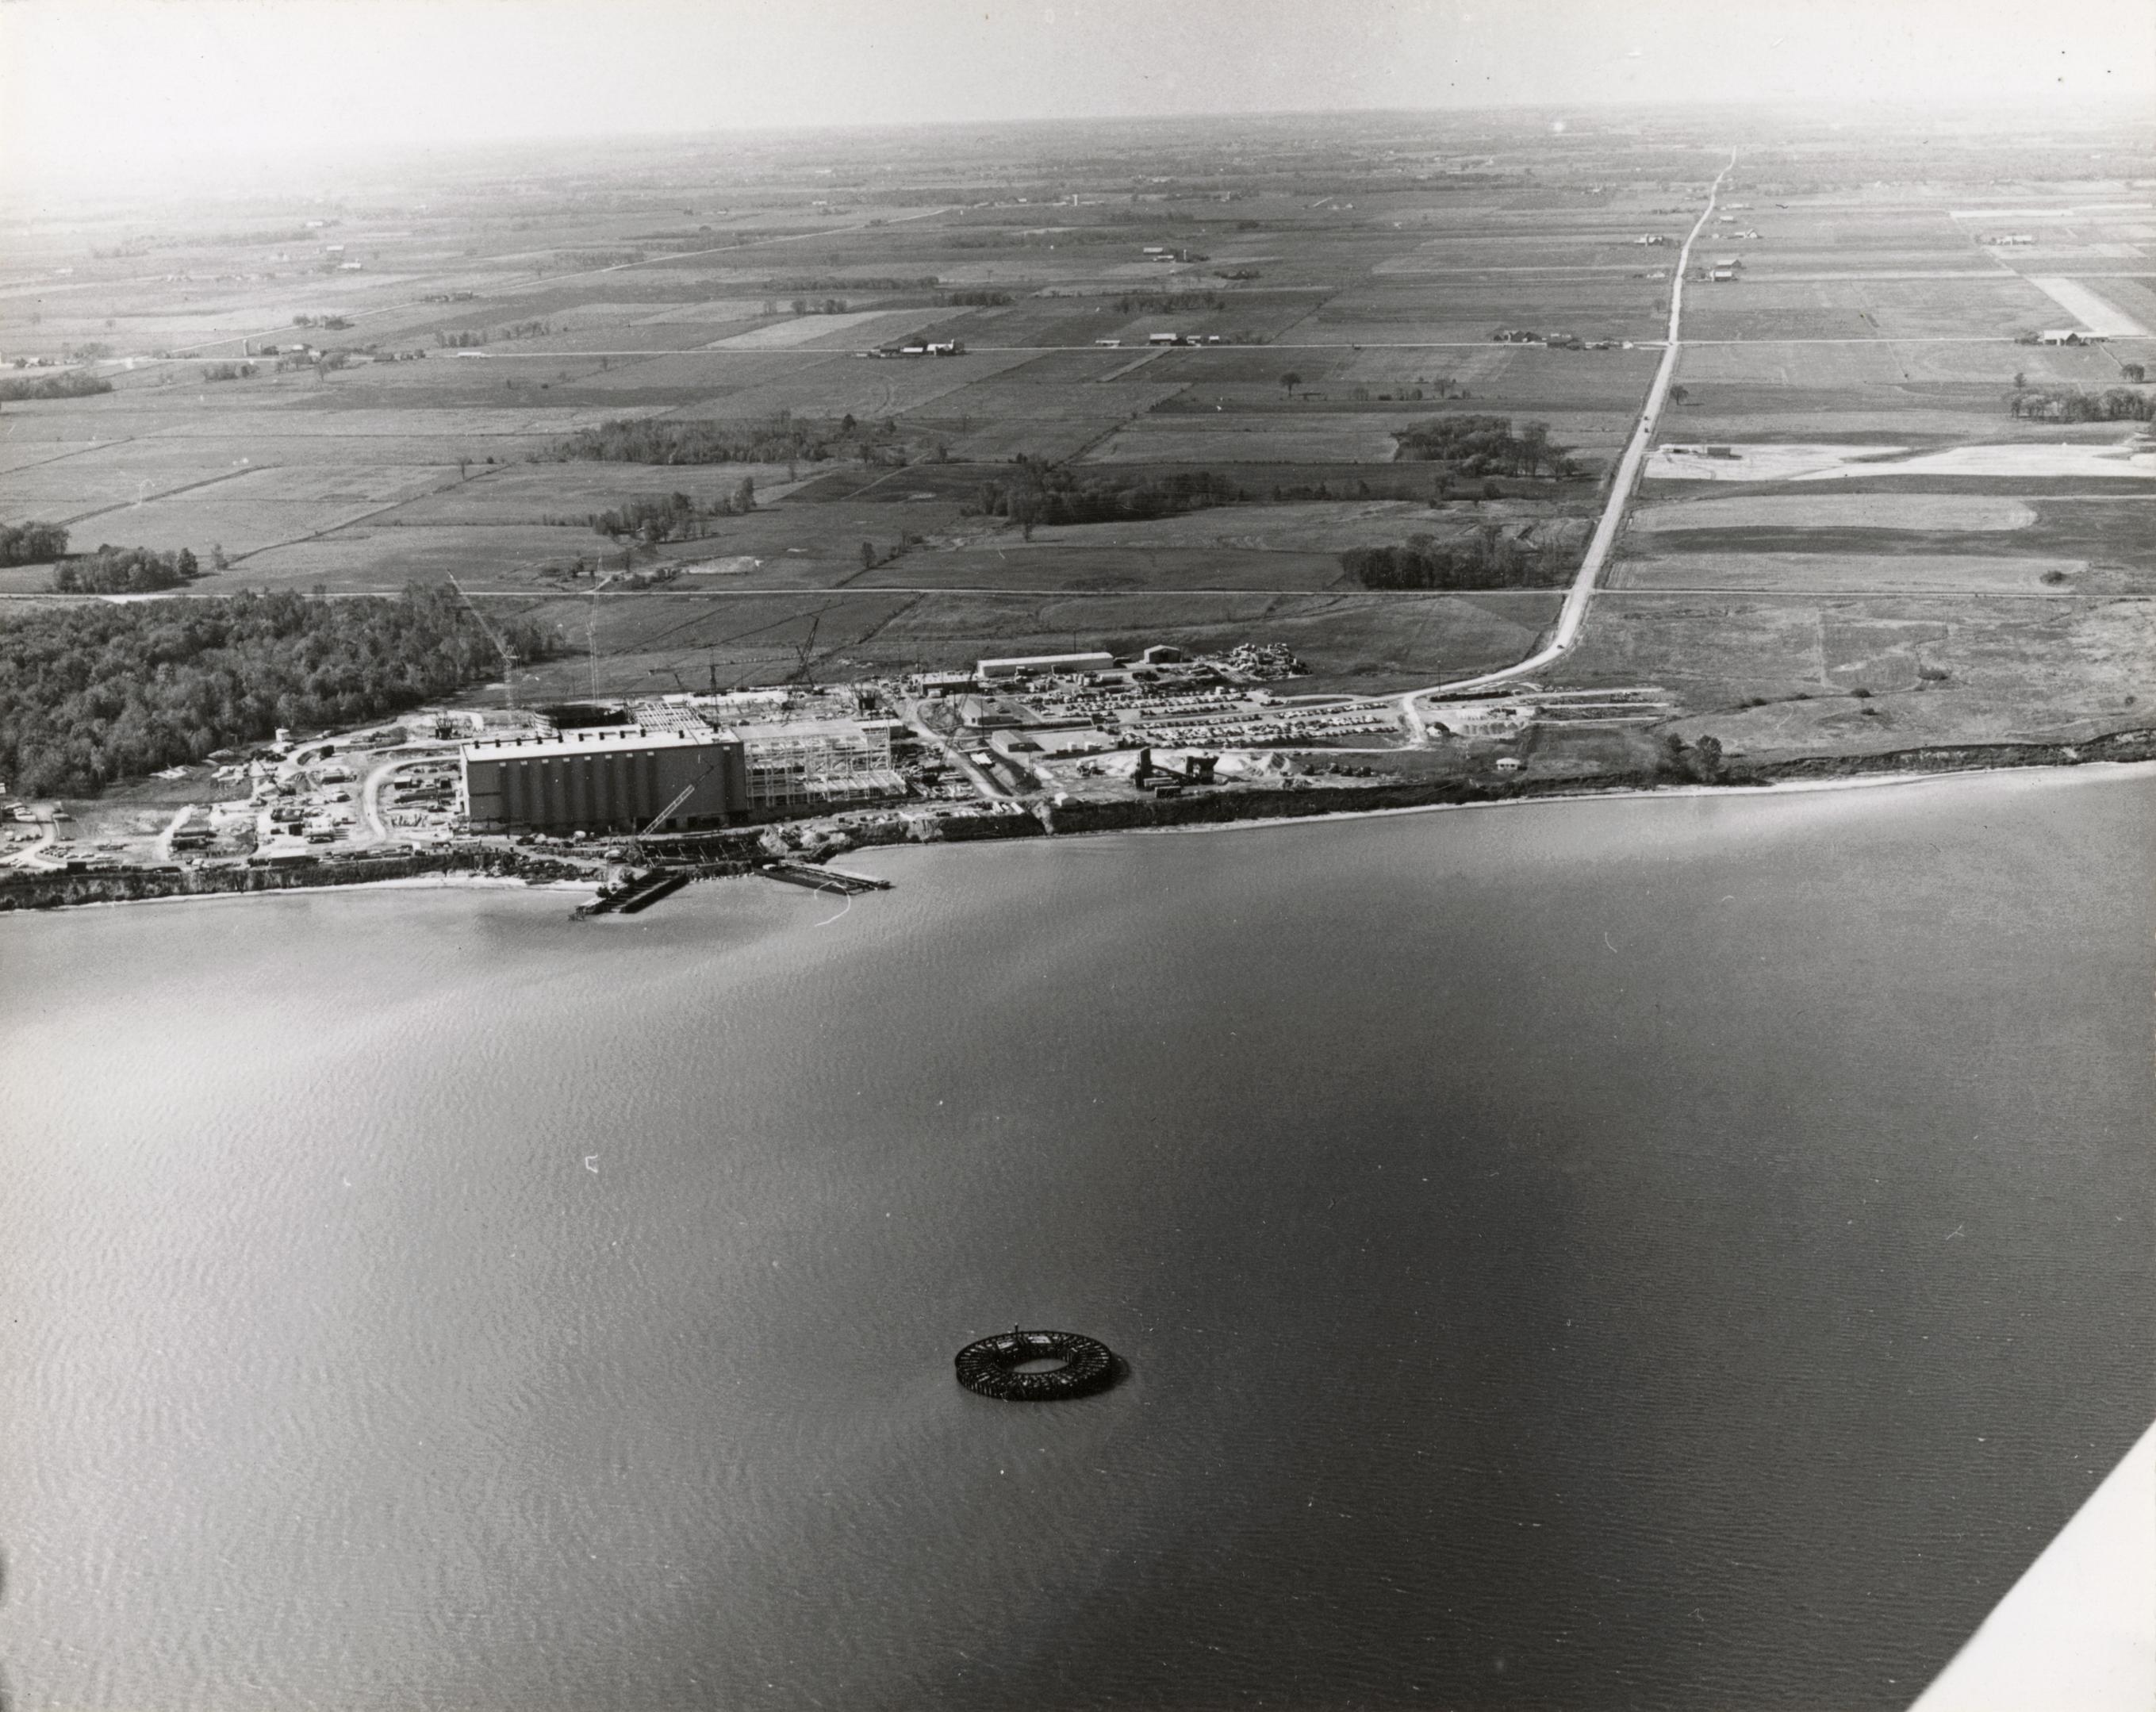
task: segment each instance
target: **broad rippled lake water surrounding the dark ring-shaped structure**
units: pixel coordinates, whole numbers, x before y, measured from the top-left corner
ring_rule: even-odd
[[[2152,832],[0,921],[11,1706],[1906,1706],[2156,1417]],[[1128,1380],[959,1391],[1013,1322]]]

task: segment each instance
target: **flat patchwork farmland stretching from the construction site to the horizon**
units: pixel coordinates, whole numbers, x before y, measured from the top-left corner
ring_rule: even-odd
[[[1643,239],[1680,239],[1736,151],[1695,263],[1738,278],[1686,291],[1660,444],[1557,677],[1669,684],[1682,729],[1761,753],[2150,718],[2117,688],[2156,681],[2145,129],[1774,125],[865,129],[444,160],[395,196],[9,207],[0,375],[112,390],[4,401],[0,522],[222,548],[203,593],[457,576],[561,625],[535,694],[785,677],[811,627],[828,673],[1281,640],[1317,686],[1414,688],[1524,658],[1557,595],[1369,591],[1341,554],[1578,552],[1662,354],[1677,250]],[[2020,343],[2057,328],[2100,339]],[[865,356],[921,334],[966,349]],[[2029,392],[2128,403],[2016,414]],[[1570,472],[1399,457],[1464,416],[1542,425]],[[556,455],[610,423],[746,461]],[[1240,502],[1158,500],[1194,477]],[[1110,520],[1026,530],[1000,515],[1026,483]],[[586,522],[677,494],[681,526]]]

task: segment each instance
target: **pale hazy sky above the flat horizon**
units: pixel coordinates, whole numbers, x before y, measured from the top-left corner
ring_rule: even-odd
[[[2156,0],[0,0],[0,172],[714,127],[2156,103]]]

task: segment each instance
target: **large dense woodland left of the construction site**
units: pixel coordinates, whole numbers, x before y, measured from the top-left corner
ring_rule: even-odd
[[[496,625],[520,660],[556,636]],[[0,776],[86,796],[282,727],[358,724],[492,677],[494,645],[446,589],[231,595],[34,610],[0,630]]]

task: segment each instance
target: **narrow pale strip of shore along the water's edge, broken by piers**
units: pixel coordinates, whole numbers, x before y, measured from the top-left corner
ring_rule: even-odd
[[[2141,733],[2126,733],[2141,735]],[[2156,733],[2147,733],[2156,740]],[[2156,742],[2145,744],[2156,748]],[[2063,748],[2063,746],[2061,746]],[[2087,748],[2087,746],[2078,746]],[[1921,750],[1917,750],[1921,755]],[[1889,759],[1889,757],[1880,757]],[[1550,806],[1550,804],[1576,804],[1576,802],[1641,802],[1651,798],[1772,798],[1772,796],[1811,796],[1820,791],[1871,791],[1891,789],[1906,785],[1927,785],[1945,783],[1953,778],[1986,778],[2001,774],[2031,774],[2031,776],[2059,776],[2076,774],[2087,768],[2104,768],[2106,772],[2122,772],[2139,778],[2156,778],[2156,755],[2126,755],[2126,757],[2104,757],[2104,755],[2074,755],[2072,759],[2044,759],[2044,761],[2005,761],[1990,765],[1910,765],[1899,770],[1856,770],[1856,772],[1820,772],[1820,774],[1796,774],[1783,778],[1759,778],[1759,781],[1736,781],[1736,783],[1705,783],[1705,781],[1671,781],[1664,785],[1643,785],[1643,783],[1611,783],[1606,787],[1576,787],[1576,789],[1548,789],[1548,791],[1524,791],[1505,789],[1488,796],[1468,796],[1460,800],[1434,800],[1434,802],[1371,802],[1367,806],[1328,806],[1324,798],[1339,796],[1352,798],[1363,796],[1363,791],[1326,791],[1298,793],[1296,804],[1309,804],[1302,813],[1255,813],[1255,815],[1205,815],[1203,809],[1220,806],[1225,802],[1235,802],[1238,798],[1186,798],[1175,819],[1145,819],[1134,824],[1102,824],[1102,826],[1050,826],[1041,817],[1022,815],[1009,817],[1009,830],[994,826],[994,830],[962,834],[955,839],[888,839],[877,843],[856,843],[843,852],[837,852],[841,860],[854,860],[860,856],[871,856],[877,850],[938,850],[946,845],[964,843],[1007,843],[1013,837],[1022,839],[1093,839],[1110,834],[1169,834],[1169,832],[1235,832],[1244,828],[1276,828],[1276,826],[1313,826],[1328,822],[1352,822],[1352,819],[1382,819],[1395,815],[1432,815],[1449,813],[1460,809],[1524,809],[1524,806]],[[1376,796],[1378,791],[1369,791]],[[1246,798],[1242,798],[1246,800]],[[1110,804],[1128,809],[1151,809],[1156,804]],[[811,860],[811,858],[802,858]],[[65,875],[52,875],[56,882]],[[75,875],[86,878],[86,875]],[[97,875],[99,880],[123,880],[125,875]],[[310,875],[313,878],[313,875]],[[733,875],[746,878],[746,875]],[[446,869],[431,873],[403,873],[384,875],[371,880],[328,880],[315,884],[278,884],[278,886],[213,886],[203,890],[164,890],[147,897],[82,897],[82,899],[52,899],[43,903],[0,903],[0,916],[13,914],[45,914],[50,910],[88,910],[88,908],[121,908],[132,903],[196,903],[205,899],[224,897],[282,897],[282,895],[310,895],[319,897],[323,893],[349,893],[349,890],[520,890],[520,893],[593,893],[597,890],[595,880],[567,878],[567,875],[520,875],[500,871],[472,871],[472,869]]]

